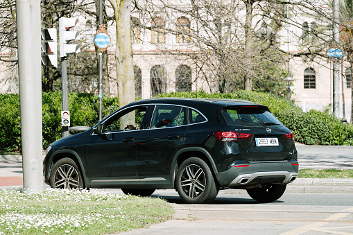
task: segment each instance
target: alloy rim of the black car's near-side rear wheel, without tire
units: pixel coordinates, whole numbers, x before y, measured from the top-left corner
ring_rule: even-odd
[[[206,175],[198,165],[191,164],[182,171],[180,186],[189,198],[198,198],[206,187]]]

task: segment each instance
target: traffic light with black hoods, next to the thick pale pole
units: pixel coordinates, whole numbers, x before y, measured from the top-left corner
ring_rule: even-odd
[[[56,28],[41,30],[42,64],[46,67],[58,68],[58,33]]]

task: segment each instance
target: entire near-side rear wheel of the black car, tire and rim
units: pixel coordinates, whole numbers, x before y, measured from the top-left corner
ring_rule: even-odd
[[[175,177],[175,189],[187,203],[210,203],[218,194],[212,171],[198,157],[182,162]]]

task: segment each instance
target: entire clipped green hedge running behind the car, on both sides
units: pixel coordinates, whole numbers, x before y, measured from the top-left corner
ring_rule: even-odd
[[[232,98],[267,105],[279,121],[294,133],[295,140],[311,145],[353,145],[353,126],[343,124],[331,114],[311,110],[302,112],[300,107],[286,98],[270,94],[239,91],[232,94],[207,94],[205,92],[180,92],[164,97]],[[19,95],[0,94],[0,151],[21,150],[21,122]],[[102,116],[119,107],[117,98],[103,98]],[[69,94],[71,126],[92,126],[98,121],[98,96]],[[43,148],[61,138],[61,93],[43,93]]]

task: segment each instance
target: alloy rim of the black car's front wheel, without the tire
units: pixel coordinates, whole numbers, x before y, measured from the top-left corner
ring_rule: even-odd
[[[77,189],[79,183],[78,171],[74,166],[64,164],[56,170],[54,176],[56,189]]]

